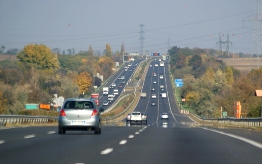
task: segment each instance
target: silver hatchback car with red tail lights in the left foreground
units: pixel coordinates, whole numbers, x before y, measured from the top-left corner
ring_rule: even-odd
[[[64,101],[58,116],[58,133],[66,130],[93,130],[101,134],[101,117],[91,98],[68,98]]]

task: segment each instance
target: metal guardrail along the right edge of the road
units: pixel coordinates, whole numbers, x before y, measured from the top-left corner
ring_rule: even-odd
[[[231,124],[238,126],[262,127],[262,118],[201,118],[197,114],[189,111],[189,115],[197,119],[199,122],[210,122],[218,124]]]

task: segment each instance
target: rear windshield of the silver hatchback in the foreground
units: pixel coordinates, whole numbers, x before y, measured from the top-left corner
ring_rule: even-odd
[[[94,104],[92,101],[81,101],[81,100],[76,100],[76,101],[66,101],[64,108],[75,108],[75,109],[79,109],[79,108],[94,108]]]

